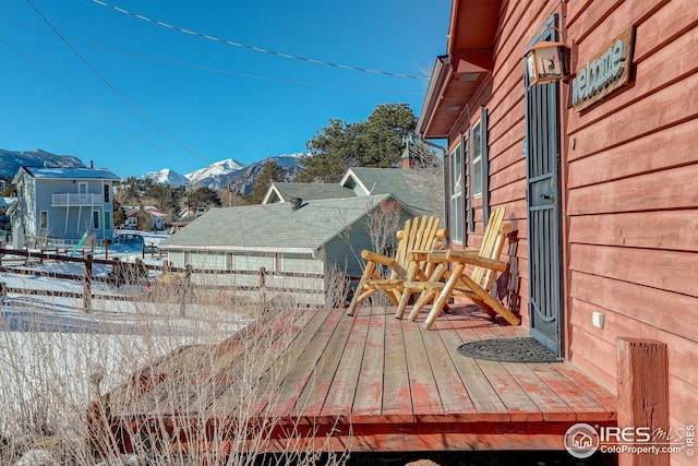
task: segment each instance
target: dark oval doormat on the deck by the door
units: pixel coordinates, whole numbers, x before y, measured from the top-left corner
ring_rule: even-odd
[[[473,359],[500,362],[559,362],[553,351],[535,338],[495,338],[470,342],[458,347],[458,353]]]

